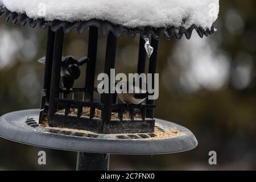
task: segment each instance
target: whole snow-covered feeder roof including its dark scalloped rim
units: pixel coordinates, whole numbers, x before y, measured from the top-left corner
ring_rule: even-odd
[[[219,11],[218,0],[0,0],[0,5],[1,1],[6,10],[26,15],[34,22],[41,20],[51,27],[54,22],[55,28],[68,26],[66,30],[64,27],[65,32],[78,28],[81,33],[85,26],[97,26],[108,30],[101,30],[102,34],[112,31],[116,36],[127,31],[156,36],[167,32],[175,35],[177,31],[184,34],[191,28],[208,35],[213,33],[212,25]],[[56,27],[56,22],[59,22],[59,27]]]

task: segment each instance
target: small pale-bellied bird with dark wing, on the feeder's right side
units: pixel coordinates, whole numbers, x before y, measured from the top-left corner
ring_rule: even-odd
[[[130,83],[130,84],[129,84]],[[144,102],[148,96],[147,90],[142,89],[142,84],[140,86],[137,86],[135,82],[120,82],[121,84],[120,89],[123,89],[124,84],[126,84],[127,92],[126,93],[118,93],[117,96],[119,100],[121,100],[125,104],[134,104],[134,105],[139,105]],[[146,83],[144,83],[146,84]],[[147,84],[146,84],[147,88]],[[133,93],[129,93],[130,91],[133,91]],[[121,90],[119,90],[121,91]]]

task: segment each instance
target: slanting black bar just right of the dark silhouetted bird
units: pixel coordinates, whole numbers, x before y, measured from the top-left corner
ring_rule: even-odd
[[[86,64],[84,101],[93,101],[94,77],[97,59],[98,28],[90,27],[88,40],[88,62]]]

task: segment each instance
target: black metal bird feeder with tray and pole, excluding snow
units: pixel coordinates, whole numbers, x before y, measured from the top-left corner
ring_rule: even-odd
[[[146,72],[144,38],[151,37],[154,52],[149,60],[148,73],[156,73],[160,36],[170,40],[185,35],[189,39],[192,31],[196,30],[203,37],[212,35],[213,27],[206,31],[196,26],[188,30],[180,27],[178,31],[175,27],[144,27],[142,30],[96,19],[73,23],[46,21],[31,19],[24,13],[10,12],[5,7],[0,7],[0,15],[4,15],[6,22],[19,22],[22,26],[28,24],[30,27],[38,24],[42,30],[48,29],[41,107],[3,115],[0,118],[1,137],[33,146],[77,151],[77,170],[107,170],[109,154],[170,154],[197,146],[195,136],[188,129],[154,118],[154,100],[140,105],[119,104],[117,94],[111,93],[102,94],[100,101],[94,99],[94,94],[97,94],[94,78],[98,32],[107,39],[104,73],[110,75],[110,69],[115,68],[117,62],[117,39],[122,34],[126,33],[130,38],[140,35],[137,73]],[[63,57],[64,33],[68,34],[74,28],[79,34],[89,28],[88,58],[80,61],[72,56]],[[77,78],[82,61],[86,62],[85,84],[81,88],[74,88],[73,81]],[[76,76],[67,73],[68,68],[62,65],[65,63],[74,66]],[[63,87],[60,86],[61,81]],[[77,98],[79,93],[84,96],[82,100]],[[124,118],[127,110],[129,115]],[[139,118],[135,117],[135,110],[139,110]],[[113,113],[117,113],[117,117],[113,118]]]

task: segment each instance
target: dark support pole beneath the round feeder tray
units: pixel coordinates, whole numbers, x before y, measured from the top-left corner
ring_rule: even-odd
[[[109,154],[77,153],[77,171],[108,171]]]

